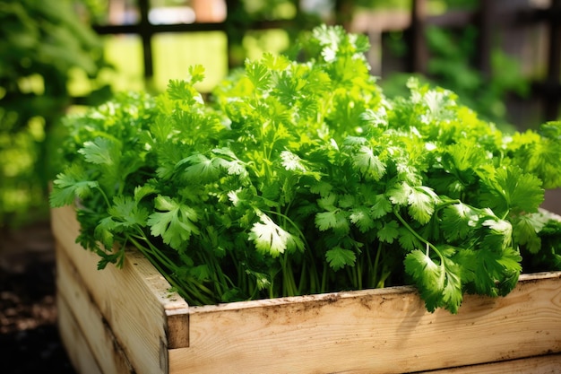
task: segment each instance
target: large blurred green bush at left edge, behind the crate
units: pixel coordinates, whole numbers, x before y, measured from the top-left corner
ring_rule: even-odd
[[[48,140],[71,104],[67,85],[81,69],[107,99],[93,80],[103,65],[97,35],[70,1],[0,1],[0,227],[47,212]]]

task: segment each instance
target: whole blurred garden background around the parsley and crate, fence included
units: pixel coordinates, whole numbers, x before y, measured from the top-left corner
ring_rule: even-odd
[[[117,91],[158,93],[194,64],[206,70],[199,90],[211,94],[246,58],[290,54],[301,33],[324,22],[367,34],[371,72],[387,95],[403,93],[416,74],[497,126],[559,118],[559,0],[0,0],[7,372],[46,362],[72,372],[57,341],[47,200],[61,117]],[[548,192],[545,206],[561,213],[558,195]]]

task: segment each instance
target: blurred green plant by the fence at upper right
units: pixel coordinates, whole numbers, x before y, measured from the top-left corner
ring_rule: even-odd
[[[428,2],[443,13],[448,9],[476,10],[476,0],[446,0]],[[398,33],[402,34],[402,33]],[[407,53],[402,35],[389,38],[391,50],[398,56]],[[474,109],[479,116],[505,129],[512,129],[512,119],[508,117],[505,102],[508,95],[521,97],[530,92],[530,80],[522,74],[518,61],[509,57],[500,48],[491,52],[490,72],[485,74],[475,65],[478,46],[478,30],[475,26],[462,29],[446,29],[430,26],[426,29],[427,48],[430,54],[427,74],[419,79],[423,82],[442,86],[458,94],[463,105]],[[409,74],[392,74],[381,83],[390,95],[404,94],[403,83]]]

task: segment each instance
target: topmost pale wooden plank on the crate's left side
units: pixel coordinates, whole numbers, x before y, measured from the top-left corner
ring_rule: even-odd
[[[88,294],[123,347],[126,357],[138,373],[168,371],[168,330],[177,335],[174,344],[186,342],[188,335],[168,326],[168,316],[186,314],[186,301],[169,292],[169,284],[158,271],[137,252],[128,254],[123,269],[108,265],[103,273],[97,270],[99,257],[84,250],[75,239],[79,223],[72,206],[51,211],[51,222],[60,248],[80,274]],[[183,317],[173,317],[171,322]]]

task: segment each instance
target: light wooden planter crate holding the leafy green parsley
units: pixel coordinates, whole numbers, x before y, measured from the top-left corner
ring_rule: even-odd
[[[59,329],[82,373],[554,373],[561,272],[428,313],[411,287],[189,307],[139,253],[99,272],[52,211]],[[442,370],[442,371],[441,371]],[[431,371],[433,372],[433,371]]]

